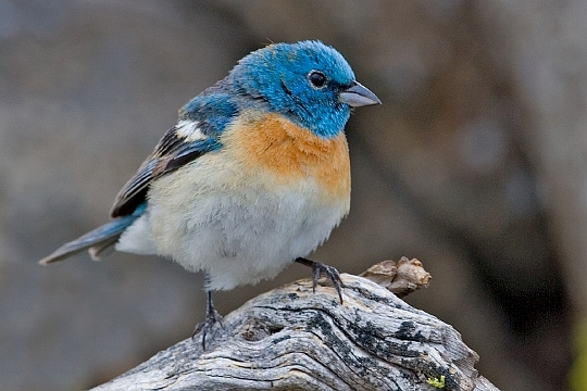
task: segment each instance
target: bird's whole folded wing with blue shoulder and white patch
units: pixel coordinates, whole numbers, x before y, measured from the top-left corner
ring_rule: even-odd
[[[221,147],[218,136],[237,113],[224,94],[203,94],[192,99],[180,112],[180,119],[157,144],[137,174],[123,186],[111,216],[132,214],[147,197],[157,178]]]

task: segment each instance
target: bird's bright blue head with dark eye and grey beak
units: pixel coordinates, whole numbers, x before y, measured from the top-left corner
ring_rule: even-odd
[[[342,131],[351,106],[380,103],[345,58],[320,41],[270,45],[240,60],[228,79],[238,94],[265,101],[324,138]]]

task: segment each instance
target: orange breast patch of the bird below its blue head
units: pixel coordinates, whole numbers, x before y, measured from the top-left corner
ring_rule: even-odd
[[[223,142],[247,168],[268,173],[276,185],[313,179],[330,197],[349,197],[349,149],[344,133],[323,139],[278,114],[243,115],[227,129]]]

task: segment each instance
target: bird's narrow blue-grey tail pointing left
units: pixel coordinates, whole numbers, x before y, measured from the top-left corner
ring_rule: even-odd
[[[112,250],[122,232],[128,228],[140,214],[123,216],[110,223],[100,226],[88,234],[63,244],[57,249],[51,255],[48,255],[39,261],[41,265],[64,260],[68,256],[89,250],[89,254],[93,260],[99,260],[104,251]]]

